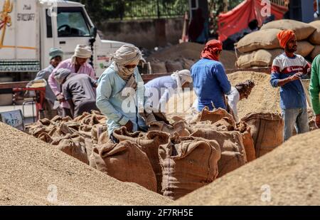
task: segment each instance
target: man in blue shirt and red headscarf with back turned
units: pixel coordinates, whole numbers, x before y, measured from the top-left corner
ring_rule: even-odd
[[[226,109],[225,95],[230,94],[231,85],[223,64],[219,62],[221,52],[220,41],[208,41],[201,53],[201,60],[191,68],[193,88],[198,96],[198,111],[206,106],[210,110]]]

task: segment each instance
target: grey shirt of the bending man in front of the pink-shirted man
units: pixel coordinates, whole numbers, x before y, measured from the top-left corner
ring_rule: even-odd
[[[67,80],[63,83],[62,91],[65,100],[73,100],[75,112],[78,112],[80,103],[95,101],[97,96],[95,85],[97,85],[97,80],[87,74],[71,73],[68,75]]]

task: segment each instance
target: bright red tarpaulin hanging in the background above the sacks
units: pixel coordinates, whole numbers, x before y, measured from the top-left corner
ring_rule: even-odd
[[[218,19],[219,40],[225,41],[228,36],[238,33],[248,27],[248,23],[257,19],[261,26],[267,17],[262,16],[261,11],[264,10],[265,4],[261,0],[245,0],[232,11],[220,14]],[[288,11],[284,6],[272,4],[271,14],[274,19],[283,18],[284,13]]]

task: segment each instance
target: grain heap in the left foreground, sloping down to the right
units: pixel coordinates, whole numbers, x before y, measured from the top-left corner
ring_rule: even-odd
[[[165,205],[170,202],[137,184],[119,182],[1,122],[0,140],[0,205]]]

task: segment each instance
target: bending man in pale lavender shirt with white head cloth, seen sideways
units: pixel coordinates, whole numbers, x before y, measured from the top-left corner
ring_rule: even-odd
[[[183,88],[187,88],[192,83],[191,72],[189,70],[180,70],[175,73],[150,80],[144,87],[148,94],[159,98],[159,105],[154,105],[156,110],[164,112],[166,103],[175,93],[181,93]],[[150,98],[151,99],[151,98]],[[153,103],[156,104],[156,103]]]

